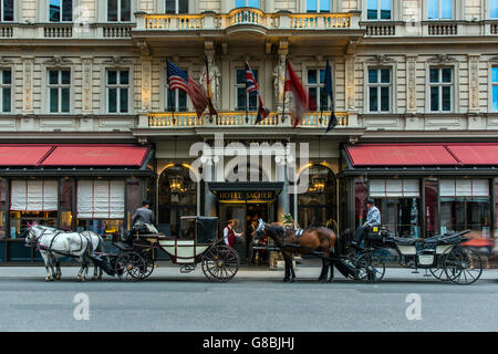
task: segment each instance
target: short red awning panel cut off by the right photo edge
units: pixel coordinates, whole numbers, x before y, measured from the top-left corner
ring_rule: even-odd
[[[498,144],[448,144],[461,165],[498,165]]]

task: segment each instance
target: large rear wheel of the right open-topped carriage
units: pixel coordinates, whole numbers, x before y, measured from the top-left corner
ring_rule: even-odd
[[[454,283],[469,285],[483,274],[483,260],[475,250],[458,248],[445,258],[445,272]]]

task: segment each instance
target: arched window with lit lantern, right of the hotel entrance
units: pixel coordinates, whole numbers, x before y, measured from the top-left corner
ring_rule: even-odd
[[[325,226],[336,231],[334,225],[336,221],[336,179],[334,174],[322,165],[313,165],[309,167],[308,178],[308,191],[298,196],[299,225],[302,228]]]

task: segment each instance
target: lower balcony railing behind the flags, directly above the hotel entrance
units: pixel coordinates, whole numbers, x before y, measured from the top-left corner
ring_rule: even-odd
[[[310,112],[301,119],[299,127],[305,128],[326,128],[330,112]],[[335,113],[339,127],[349,126],[347,113]],[[282,119],[282,114],[270,113],[270,115],[261,123],[256,125],[257,112],[219,112],[218,116],[208,115],[197,117],[194,112],[186,113],[151,113],[148,115],[148,127],[151,128],[193,128],[193,127],[290,127],[290,116],[286,115]]]

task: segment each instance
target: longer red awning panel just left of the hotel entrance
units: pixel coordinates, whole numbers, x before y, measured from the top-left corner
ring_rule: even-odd
[[[142,166],[148,147],[137,145],[56,145],[41,166]]]

